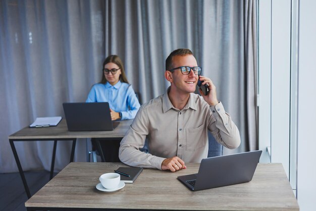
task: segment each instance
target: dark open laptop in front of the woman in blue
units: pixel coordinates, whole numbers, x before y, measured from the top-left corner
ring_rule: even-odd
[[[113,131],[120,122],[112,121],[108,102],[63,103],[69,131]]]

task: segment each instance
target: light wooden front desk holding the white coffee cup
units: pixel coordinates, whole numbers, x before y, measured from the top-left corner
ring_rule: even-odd
[[[99,176],[122,163],[72,162],[25,202],[27,210],[299,210],[281,163],[259,163],[251,182],[190,191],[176,178],[198,172],[188,163],[176,173],[144,169],[116,192],[95,188]]]

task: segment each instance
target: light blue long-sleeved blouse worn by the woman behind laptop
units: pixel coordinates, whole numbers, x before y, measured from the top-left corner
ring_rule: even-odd
[[[120,80],[114,86],[109,82],[105,85],[96,83],[92,86],[86,102],[108,102],[112,110],[121,112],[122,120],[135,118],[140,107],[132,85]]]

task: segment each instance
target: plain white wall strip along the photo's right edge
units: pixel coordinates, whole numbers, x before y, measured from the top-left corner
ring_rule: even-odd
[[[297,200],[316,207],[316,1],[299,2]]]

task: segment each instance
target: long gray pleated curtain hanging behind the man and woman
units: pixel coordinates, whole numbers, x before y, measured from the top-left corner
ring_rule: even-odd
[[[63,102],[83,102],[100,80],[102,61],[119,55],[141,101],[163,94],[165,60],[193,51],[202,74],[237,124],[242,143],[257,148],[255,1],[1,1],[0,172],[16,172],[8,136],[36,117],[64,116]],[[49,170],[53,143],[16,143],[24,170]],[[71,143],[58,142],[56,170]],[[79,140],[75,161],[86,161]]]

